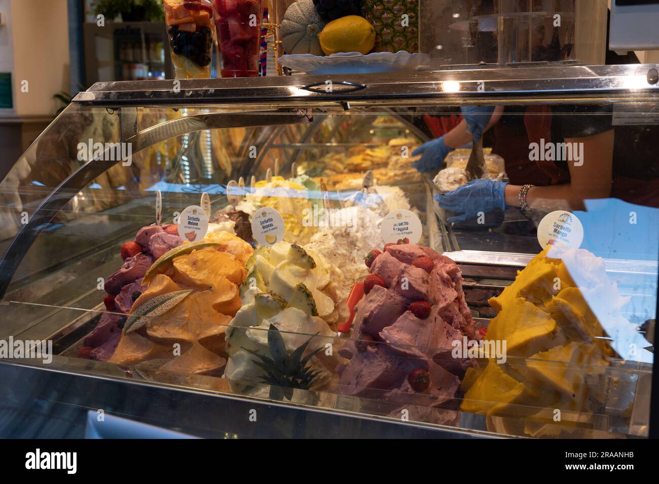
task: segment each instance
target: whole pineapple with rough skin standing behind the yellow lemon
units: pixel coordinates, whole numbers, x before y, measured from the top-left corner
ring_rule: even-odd
[[[374,52],[418,52],[418,4],[419,0],[362,0],[362,15],[376,32]]]

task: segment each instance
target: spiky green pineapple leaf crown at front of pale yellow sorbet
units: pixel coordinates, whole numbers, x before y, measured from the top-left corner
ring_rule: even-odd
[[[313,370],[306,363],[316,353],[322,350],[322,348],[316,348],[316,350],[310,352],[308,355],[302,356],[312,338],[313,336],[289,354],[279,329],[275,325],[270,324],[270,329],[268,330],[268,348],[270,349],[272,358],[258,354],[243,346],[246,352],[249,352],[260,360],[252,361],[265,372],[261,383],[270,385],[270,396],[272,398],[277,398],[279,394],[283,394],[288,400],[291,400],[294,389],[308,390],[314,384],[321,370]]]

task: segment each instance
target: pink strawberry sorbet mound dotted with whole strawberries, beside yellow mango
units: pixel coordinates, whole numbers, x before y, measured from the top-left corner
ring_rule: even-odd
[[[391,416],[405,408],[412,419],[454,423],[460,379],[476,363],[452,358],[452,342],[480,339],[459,267],[430,248],[399,244],[377,255],[369,271],[384,286],[355,306],[354,339],[339,351],[350,360],[339,368],[339,391]]]

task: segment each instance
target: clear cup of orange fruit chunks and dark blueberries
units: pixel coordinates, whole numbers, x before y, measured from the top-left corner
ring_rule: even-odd
[[[177,79],[208,79],[215,43],[210,0],[164,0],[171,61]]]

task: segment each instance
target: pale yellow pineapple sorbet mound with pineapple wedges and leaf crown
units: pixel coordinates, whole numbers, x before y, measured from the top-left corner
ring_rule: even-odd
[[[265,375],[264,369],[257,364],[260,360],[250,352],[273,358],[268,342],[270,325],[281,333],[289,355],[307,340],[310,342],[304,354],[325,348],[328,342],[335,344],[337,335],[327,321],[338,317],[337,305],[331,295],[335,296],[333,287],[335,282],[341,281],[341,271],[322,255],[312,250],[305,251],[306,254],[299,248],[291,248],[288,242],[279,242],[272,248],[258,249],[250,259],[252,268],[248,281],[251,277],[254,281],[249,284],[255,285],[241,286],[243,306],[226,331],[229,360],[224,377],[230,380],[233,390],[255,396],[265,396],[268,392],[268,385],[260,383]],[[305,288],[301,289],[299,284],[304,284]],[[304,294],[305,302],[299,306],[301,301],[294,301],[301,294]],[[264,298],[270,298],[270,301]],[[272,298],[279,302],[273,302]],[[312,302],[317,311],[302,310],[307,308],[308,302]],[[337,356],[323,351],[310,358],[308,365],[319,371],[312,389],[328,385],[337,363]],[[301,394],[298,390],[296,392]]]

